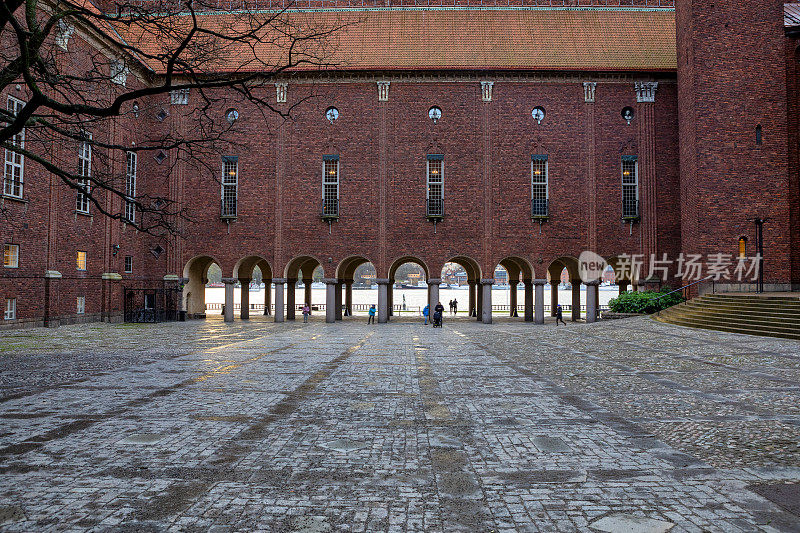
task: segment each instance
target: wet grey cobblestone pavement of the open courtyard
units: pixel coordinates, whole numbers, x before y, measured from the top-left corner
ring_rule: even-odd
[[[0,530],[799,531],[798,400],[648,319],[4,332]]]

